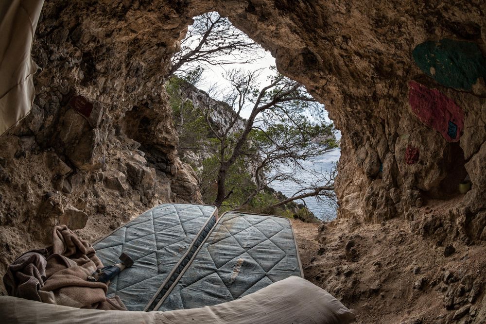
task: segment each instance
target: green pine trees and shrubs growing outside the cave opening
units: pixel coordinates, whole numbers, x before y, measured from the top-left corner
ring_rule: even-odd
[[[260,91],[253,79],[257,72],[234,70],[229,73],[233,92],[225,97],[225,101],[233,109],[254,104],[253,111],[257,113],[243,121],[249,127],[248,134],[241,126],[234,127],[236,119],[213,120],[211,105],[203,103],[207,106],[195,107],[188,99],[188,90],[197,91],[190,83],[197,82],[201,72],[198,68],[187,72],[183,78],[172,77],[166,83],[166,89],[179,135],[179,152],[188,150],[205,156],[202,165],[191,164],[198,173],[203,201],[220,206],[220,212],[244,205],[248,211],[316,221],[308,209],[293,202],[278,205],[286,197],[263,188],[271,182],[271,173],[274,179],[287,177],[298,181],[292,175],[275,175],[275,171],[281,172],[278,169],[282,163],[300,166],[299,161],[337,147],[333,125],[315,122],[322,120],[322,106],[301,85],[282,75],[270,78],[272,86]],[[311,114],[315,115],[310,118]],[[241,120],[239,122],[241,125]],[[185,157],[182,154],[183,160]],[[224,186],[218,186],[218,181]],[[278,206],[269,210],[271,205]]]

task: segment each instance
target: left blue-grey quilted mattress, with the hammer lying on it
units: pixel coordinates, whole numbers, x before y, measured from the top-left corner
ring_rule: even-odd
[[[214,206],[162,204],[96,242],[104,265],[119,263],[121,253],[135,261],[111,280],[107,296],[118,295],[128,310],[146,308],[162,284],[174,282],[217,218]]]

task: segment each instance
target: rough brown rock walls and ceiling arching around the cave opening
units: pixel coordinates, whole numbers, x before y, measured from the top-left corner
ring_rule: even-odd
[[[80,234],[94,239],[158,202],[200,199],[194,173],[177,158],[161,76],[191,17],[208,11],[229,16],[272,52],[280,72],[326,104],[343,134],[335,184],[341,221],[398,217],[398,225],[410,224],[411,235],[423,232],[441,244],[477,246],[485,239],[484,74],[468,75],[464,66],[438,71],[437,62],[424,70],[413,57],[418,45],[447,38],[473,43],[474,62],[481,65],[484,1],[52,0],[44,5],[33,46],[42,69],[35,76],[35,106],[0,137],[1,273],[20,252],[49,237],[46,229],[68,205],[87,213]],[[435,45],[419,49],[424,55],[443,51]],[[448,57],[467,57],[467,49],[448,47]],[[471,90],[451,78],[472,80]],[[462,110],[458,142],[431,128],[435,120],[416,116],[411,81]],[[99,121],[85,113],[89,104],[73,103],[78,96],[92,104],[91,111],[101,110],[95,112]],[[105,172],[111,180],[104,181]],[[466,176],[472,189],[459,194]],[[349,253],[354,248],[358,255],[351,259],[360,257],[360,239],[354,241]],[[479,261],[484,269],[484,258]],[[413,305],[397,311],[406,314],[407,307]],[[485,313],[470,307],[471,317],[471,311]]]

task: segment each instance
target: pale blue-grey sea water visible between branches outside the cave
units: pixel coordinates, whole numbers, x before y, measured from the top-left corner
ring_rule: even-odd
[[[301,161],[304,170],[294,170],[290,167],[282,166],[282,171],[294,173],[296,178],[303,180],[304,184],[317,182],[318,185],[323,185],[323,183],[319,182],[311,172],[306,170],[329,174],[332,168],[336,166],[336,162],[339,160],[340,155],[341,150],[336,148],[328,153],[315,157],[312,161]],[[287,197],[293,196],[296,191],[302,188],[301,185],[295,184],[292,181],[275,181],[272,182],[270,187],[277,191],[281,191]],[[337,205],[318,201],[314,197],[304,198],[304,201],[307,207],[318,219],[329,221],[336,218]],[[296,200],[295,203],[302,204],[302,201]]]

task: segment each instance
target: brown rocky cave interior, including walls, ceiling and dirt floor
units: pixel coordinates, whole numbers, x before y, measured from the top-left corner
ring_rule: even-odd
[[[47,244],[68,211],[86,217],[77,233],[94,241],[154,205],[201,201],[177,157],[162,75],[192,17],[211,11],[270,51],[342,133],[337,220],[297,230],[306,278],[361,323],[482,323],[479,0],[46,1],[32,47],[34,104],[0,136],[0,273]],[[455,65],[441,71],[430,57]],[[79,96],[93,105],[88,118],[72,113]]]

